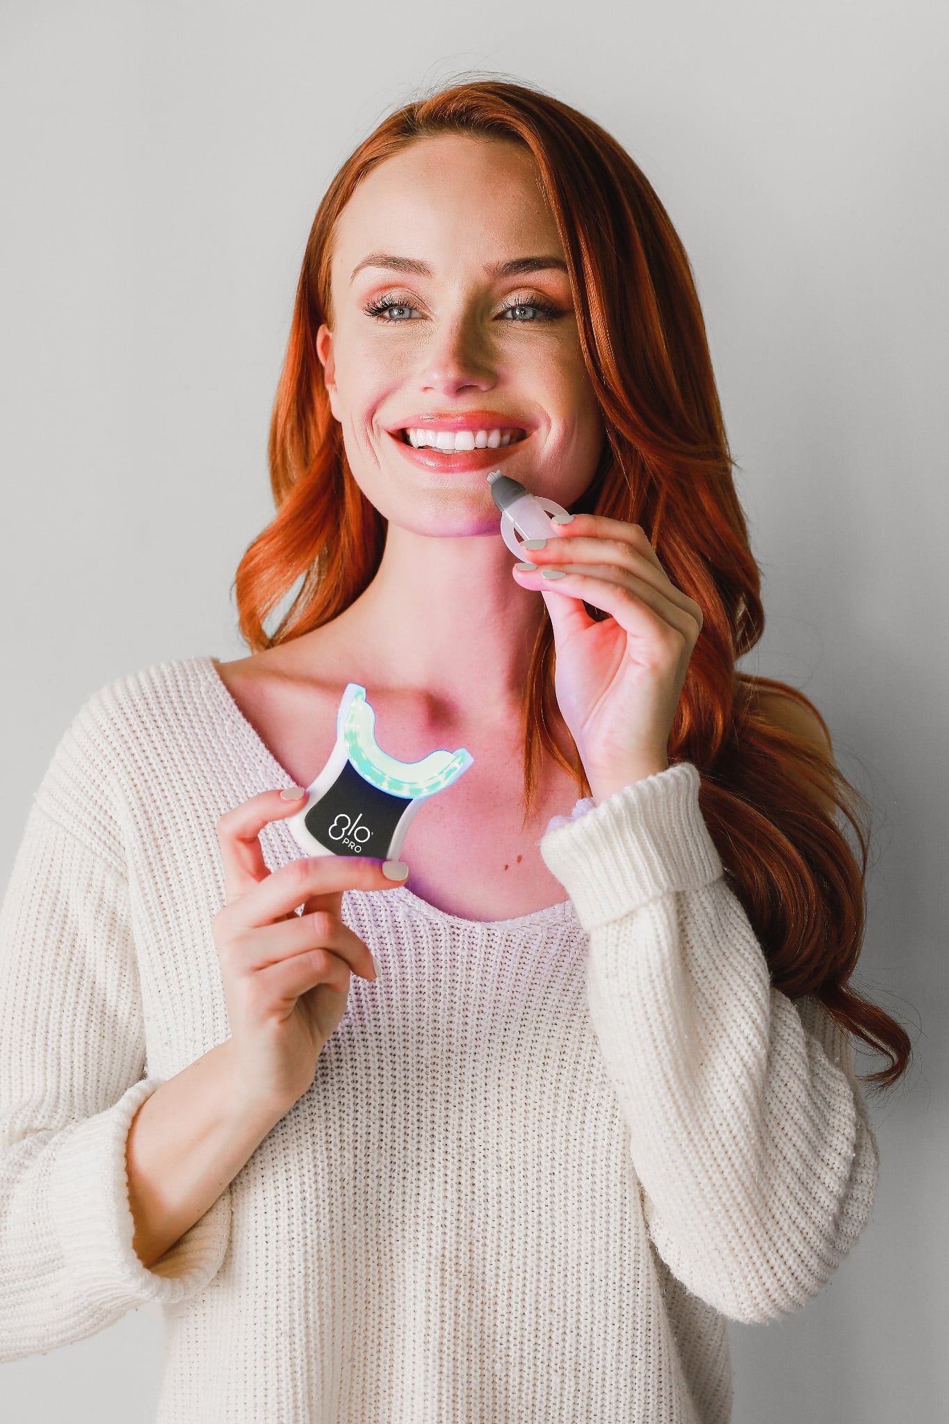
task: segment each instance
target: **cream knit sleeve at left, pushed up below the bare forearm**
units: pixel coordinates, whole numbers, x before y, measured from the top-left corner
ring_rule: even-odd
[[[132,1247],[125,1139],[162,1079],[144,1077],[128,884],[81,738],[57,748],[0,904],[0,1361],[184,1300],[230,1232],[225,1192],[151,1267]]]

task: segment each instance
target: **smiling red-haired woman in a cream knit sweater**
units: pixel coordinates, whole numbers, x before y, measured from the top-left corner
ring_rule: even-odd
[[[472,444],[572,511],[534,565]],[[3,1357],[159,1302],[159,1420],[727,1420],[726,1321],[869,1218],[851,1034],[881,1084],[909,1042],[848,988],[824,721],[736,671],[757,567],[630,157],[507,81],[387,118],[319,208],[270,464],[250,655],[100,689],[30,810]],[[283,824],[349,682],[393,756],[474,758],[411,889]]]

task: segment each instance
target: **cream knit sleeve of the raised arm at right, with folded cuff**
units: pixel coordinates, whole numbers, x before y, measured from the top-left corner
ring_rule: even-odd
[[[849,1034],[771,985],[699,786],[679,762],[586,797],[541,854],[589,934],[590,1020],[653,1245],[721,1314],[767,1321],[854,1246],[879,1156]]]

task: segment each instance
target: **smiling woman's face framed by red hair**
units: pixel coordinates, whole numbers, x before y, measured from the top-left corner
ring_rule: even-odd
[[[378,253],[430,272],[376,256],[353,276]],[[353,477],[387,520],[430,534],[497,533],[487,470],[430,470],[400,450],[418,414],[489,412],[521,426],[526,439],[494,463],[561,504],[590,483],[605,427],[566,271],[487,271],[535,256],[563,262],[563,249],[534,157],[509,141],[417,140],[374,168],[340,215],[334,328],[320,326],[317,355]],[[447,511],[461,515],[454,530]],[[484,530],[471,527],[474,511]]]

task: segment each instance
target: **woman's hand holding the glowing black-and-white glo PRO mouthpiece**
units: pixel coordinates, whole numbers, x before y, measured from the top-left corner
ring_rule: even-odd
[[[212,934],[235,1087],[248,1102],[282,1112],[313,1082],[346,1012],[350,975],[376,978],[369,947],[340,918],[343,890],[404,884],[383,874],[381,860],[360,856],[303,857],[267,870],[259,833],[300,805],[279,790],[260,792],[218,822],[225,904]]]

